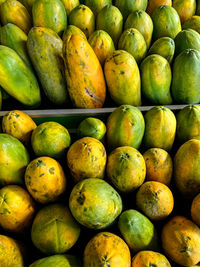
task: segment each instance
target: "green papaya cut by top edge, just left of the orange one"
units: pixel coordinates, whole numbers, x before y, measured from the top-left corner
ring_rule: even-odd
[[[115,6],[119,8],[125,21],[131,12],[136,10],[146,10],[147,3],[148,0],[116,0]]]

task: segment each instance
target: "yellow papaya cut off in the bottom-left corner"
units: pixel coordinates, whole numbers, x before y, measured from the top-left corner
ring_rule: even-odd
[[[0,262],[6,267],[25,267],[19,244],[6,235],[0,235]]]

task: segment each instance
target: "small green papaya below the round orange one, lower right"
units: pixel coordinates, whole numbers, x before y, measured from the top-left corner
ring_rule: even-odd
[[[130,209],[122,212],[118,228],[134,253],[141,250],[158,250],[156,229],[151,221],[139,211]]]

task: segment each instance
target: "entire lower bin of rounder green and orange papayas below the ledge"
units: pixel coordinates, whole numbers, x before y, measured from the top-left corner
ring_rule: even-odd
[[[14,110],[2,130],[1,267],[198,266],[198,105],[121,105],[74,136]]]

